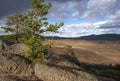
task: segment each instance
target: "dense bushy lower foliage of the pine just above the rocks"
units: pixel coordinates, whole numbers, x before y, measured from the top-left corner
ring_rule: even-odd
[[[24,57],[33,62],[45,60],[47,48],[50,48],[53,43],[50,42],[49,44],[41,44],[40,39],[42,38],[33,35],[29,40],[25,41],[25,44],[29,47],[29,50],[24,53]]]

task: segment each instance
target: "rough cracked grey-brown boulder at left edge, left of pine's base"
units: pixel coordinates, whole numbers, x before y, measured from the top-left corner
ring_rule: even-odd
[[[0,76],[32,76],[33,69],[25,58],[14,54],[0,54]]]

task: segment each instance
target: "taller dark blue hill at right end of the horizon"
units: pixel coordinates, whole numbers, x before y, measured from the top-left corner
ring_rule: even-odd
[[[101,34],[101,35],[89,35],[79,37],[82,40],[108,40],[108,41],[120,41],[120,34]]]

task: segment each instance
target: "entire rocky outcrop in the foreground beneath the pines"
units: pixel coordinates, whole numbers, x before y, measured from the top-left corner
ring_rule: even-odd
[[[0,81],[115,81],[84,69],[70,55],[47,55],[45,63],[32,64],[20,54],[24,44],[0,42]]]

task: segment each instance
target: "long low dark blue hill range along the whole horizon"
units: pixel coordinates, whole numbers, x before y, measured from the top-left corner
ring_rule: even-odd
[[[101,35],[88,35],[88,36],[82,36],[82,37],[76,37],[76,38],[66,38],[66,37],[58,37],[58,36],[53,36],[47,37],[60,40],[60,39],[76,39],[76,40],[103,40],[103,41],[120,41],[120,34],[101,34]]]

